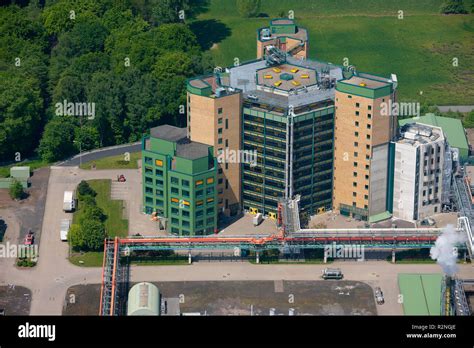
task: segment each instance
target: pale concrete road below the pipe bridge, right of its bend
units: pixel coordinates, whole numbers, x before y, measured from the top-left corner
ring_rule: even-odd
[[[379,315],[403,315],[398,303],[399,273],[441,273],[436,264],[390,264],[385,261],[348,262],[331,265],[254,265],[247,262],[197,263],[191,266],[132,266],[130,278],[141,281],[212,281],[212,280],[317,280],[326,267],[340,268],[345,280],[362,281],[373,288],[380,286],[385,304],[377,306]],[[472,265],[460,265],[459,276],[472,278]]]

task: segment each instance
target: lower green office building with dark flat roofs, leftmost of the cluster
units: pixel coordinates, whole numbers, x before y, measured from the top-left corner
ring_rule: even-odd
[[[143,206],[183,236],[217,231],[217,160],[186,128],[159,126],[142,139]]]

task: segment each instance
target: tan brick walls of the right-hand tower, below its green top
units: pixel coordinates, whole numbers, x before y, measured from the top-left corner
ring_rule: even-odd
[[[354,203],[368,210],[373,147],[390,142],[396,131],[396,118],[380,115],[380,104],[390,96],[371,99],[336,91],[335,98],[333,210]]]

